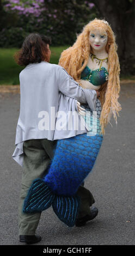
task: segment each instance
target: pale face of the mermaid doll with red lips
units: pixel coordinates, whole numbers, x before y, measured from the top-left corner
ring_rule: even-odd
[[[108,40],[108,35],[106,31],[101,31],[101,29],[93,29],[89,34],[90,45],[94,50],[101,51],[105,50]]]

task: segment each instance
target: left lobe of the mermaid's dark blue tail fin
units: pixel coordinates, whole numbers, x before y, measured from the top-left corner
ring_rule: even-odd
[[[48,209],[55,195],[42,179],[35,179],[24,200],[23,212],[40,212]]]

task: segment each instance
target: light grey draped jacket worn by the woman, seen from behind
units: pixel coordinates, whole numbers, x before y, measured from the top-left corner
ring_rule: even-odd
[[[23,166],[23,142],[28,139],[53,141],[86,133],[88,130],[78,115],[77,101],[88,103],[95,111],[96,91],[83,89],[59,65],[47,62],[27,65],[20,73],[20,115],[13,159]],[[78,117],[77,129],[75,116]],[[69,117],[69,124],[71,117],[73,122],[70,129]]]

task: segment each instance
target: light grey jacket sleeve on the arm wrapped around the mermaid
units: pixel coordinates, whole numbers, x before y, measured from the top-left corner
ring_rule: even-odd
[[[91,89],[83,89],[79,84],[68,74],[68,72],[59,66],[57,71],[58,89],[61,93],[76,99],[82,103],[88,103],[90,109],[95,111],[96,108],[96,91]]]

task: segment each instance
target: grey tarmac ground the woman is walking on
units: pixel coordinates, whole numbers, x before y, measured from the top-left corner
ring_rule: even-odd
[[[108,125],[93,172],[85,181],[94,194],[99,215],[85,227],[66,227],[52,209],[42,213],[40,245],[135,245],[135,84],[122,84],[122,111],[116,126]],[[0,93],[1,174],[0,245],[20,245],[17,203],[21,167],[12,159],[20,94]]]

